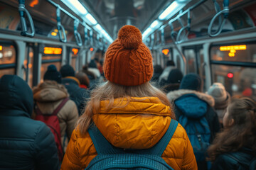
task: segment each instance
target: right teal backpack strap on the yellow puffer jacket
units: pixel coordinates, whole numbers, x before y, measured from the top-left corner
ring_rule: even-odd
[[[174,135],[174,132],[177,126],[178,126],[178,122],[174,119],[171,119],[169,128],[164,134],[164,136],[161,138],[161,140],[159,140],[159,142],[157,142],[156,145],[154,145],[154,147],[151,147],[150,149],[147,149],[147,150],[151,154],[159,155],[161,157],[167,145],[169,144],[171,137]]]

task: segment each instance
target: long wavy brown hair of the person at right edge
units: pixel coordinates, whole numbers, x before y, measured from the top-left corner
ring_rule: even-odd
[[[256,103],[251,98],[235,98],[228,105],[228,119],[233,125],[225,127],[208,148],[210,161],[220,154],[236,152],[241,147],[250,147],[256,154]],[[255,155],[256,156],[256,155]]]

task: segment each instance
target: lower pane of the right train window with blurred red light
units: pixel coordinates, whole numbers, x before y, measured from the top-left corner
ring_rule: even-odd
[[[231,96],[256,99],[256,68],[212,64],[213,81],[225,85]]]

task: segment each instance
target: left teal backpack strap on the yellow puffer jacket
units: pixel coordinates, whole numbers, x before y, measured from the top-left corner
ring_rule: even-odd
[[[97,154],[121,154],[122,149],[114,147],[106,140],[95,123],[92,123],[88,129],[89,135],[92,139],[93,145]]]

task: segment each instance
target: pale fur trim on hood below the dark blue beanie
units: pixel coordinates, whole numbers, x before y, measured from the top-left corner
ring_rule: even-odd
[[[215,101],[212,96],[193,90],[180,89],[176,91],[171,91],[167,94],[167,98],[169,99],[169,101],[174,101],[177,98],[183,96],[184,94],[195,94],[201,100],[206,101],[211,107],[214,107],[215,105]]]

